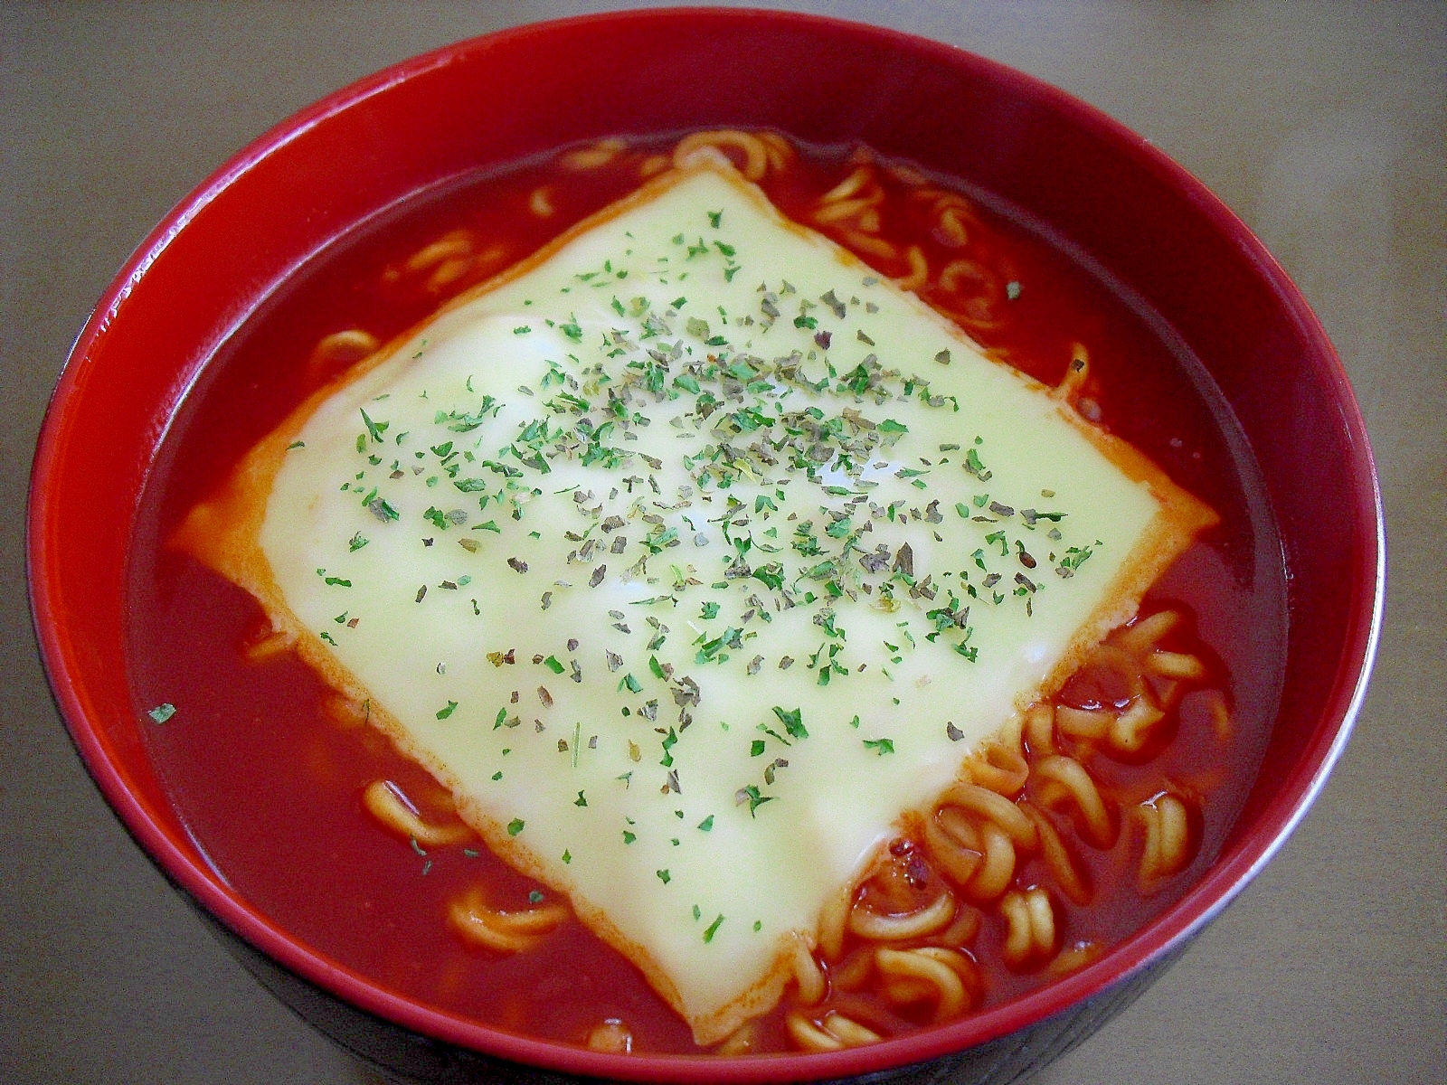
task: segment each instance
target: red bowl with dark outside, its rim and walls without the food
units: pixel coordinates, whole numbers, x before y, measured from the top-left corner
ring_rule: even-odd
[[[962,178],[1133,291],[1204,363],[1255,450],[1282,538],[1286,667],[1260,774],[1220,855],[1094,963],[871,1047],[611,1056],[399,995],[288,935],[207,865],[133,712],[124,567],[137,495],[187,389],[317,250],[489,163],[619,132],[719,126],[862,140]],[[1362,702],[1385,564],[1372,456],[1341,365],[1282,269],[1200,182],[1094,109],[958,49],[802,14],[700,9],[570,19],[449,46],[337,91],[242,150],[136,250],[77,340],[39,440],[27,545],[55,697],[140,845],[308,1020],[373,1062],[450,1081],[499,1079],[511,1066],[506,1079],[962,1082],[1043,1065],[1159,974],[1301,819]]]

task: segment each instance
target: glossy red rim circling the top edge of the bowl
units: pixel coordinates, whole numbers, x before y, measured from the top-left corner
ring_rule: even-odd
[[[1162,184],[1189,194],[1211,226],[1249,253],[1260,278],[1270,285],[1273,298],[1286,307],[1291,318],[1311,341],[1312,357],[1320,363],[1317,376],[1331,388],[1341,422],[1360,451],[1360,459],[1353,464],[1356,473],[1353,490],[1363,495],[1365,489],[1369,493],[1375,515],[1375,531],[1369,545],[1363,545],[1357,563],[1359,583],[1363,586],[1362,595],[1366,593],[1365,586],[1370,584],[1370,605],[1351,610],[1353,625],[1344,637],[1346,648],[1343,650],[1343,663],[1336,671],[1336,689],[1328,697],[1327,710],[1323,712],[1323,719],[1336,720],[1336,725],[1318,725],[1312,731],[1312,741],[1302,749],[1294,771],[1281,781],[1272,799],[1256,813],[1253,830],[1246,835],[1246,839],[1218,855],[1205,874],[1175,904],[1145,927],[1111,946],[1100,961],[961,1021],[886,1040],[870,1047],[836,1053],[722,1058],[716,1055],[606,1055],[590,1052],[560,1042],[511,1033],[428,1007],[388,990],[378,981],[368,979],[300,939],[288,936],[265,913],[245,901],[240,894],[226,888],[210,868],[197,864],[194,856],[177,846],[177,842],[130,791],[124,773],[113,761],[111,751],[87,715],[78,692],[81,683],[77,680],[77,671],[71,668],[71,655],[61,634],[64,615],[56,608],[54,596],[54,558],[45,527],[46,495],[49,479],[61,466],[65,437],[62,421],[67,404],[82,392],[87,369],[91,365],[91,352],[103,343],[124,301],[143,282],[152,265],[165,258],[171,242],[187,229],[192,218],[223,198],[239,178],[266,162],[282,148],[305,137],[308,132],[324,124],[330,117],[420,75],[464,62],[479,51],[506,46],[514,41],[560,29],[602,29],[605,26],[618,27],[635,20],[667,22],[679,19],[757,20],[760,26],[767,23],[773,27],[851,33],[873,38],[881,48],[909,52],[935,64],[985,72],[993,81],[1007,84],[1033,101],[1040,101],[1051,110],[1068,114],[1071,123],[1085,129],[1091,137],[1110,142],[1130,161],[1132,166],[1155,175]],[[1285,843],[1325,784],[1350,738],[1365,699],[1380,635],[1386,583],[1383,524],[1380,488],[1366,427],[1346,370],[1315,314],[1255,233],[1205,185],[1158,150],[1149,140],[1101,110],[1032,75],[965,49],[916,35],[832,16],[787,10],[663,7],[527,23],[453,42],[404,59],[341,87],[284,119],[201,181],[161,220],[117,272],[77,336],[56,379],[30,472],[26,571],[33,628],[46,677],[87,771],[127,830],[165,877],[266,956],[352,1005],[410,1030],[493,1058],[566,1073],[612,1079],[761,1082],[777,1081],[777,1068],[781,1062],[787,1063],[787,1073],[792,1079],[838,1078],[929,1062],[964,1050],[967,1046],[987,1043],[1045,1021],[1126,982],[1150,962],[1184,946],[1201,927],[1220,914]]]

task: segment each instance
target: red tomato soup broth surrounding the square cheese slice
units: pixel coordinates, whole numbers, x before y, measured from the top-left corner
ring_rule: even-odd
[[[754,145],[713,142],[754,169]],[[786,216],[915,289],[998,359],[1068,386],[1084,418],[1130,441],[1220,515],[1150,589],[1142,618],[1055,694],[1049,718],[1026,720],[1016,751],[1030,775],[996,790],[1030,807],[1035,843],[1020,849],[1007,882],[985,887],[983,872],[956,871],[961,904],[948,930],[899,942],[956,953],[949,966],[962,977],[962,1005],[943,1016],[958,1016],[1088,962],[1176,900],[1218,852],[1275,712],[1285,644],[1279,545],[1250,453],[1210,379],[1084,255],[993,194],[864,149],[777,137],[763,146],[792,150],[757,171]],[[130,554],[137,710],[175,706],[164,720],[146,719],[148,741],[220,877],[297,937],[410,997],[532,1036],[648,1052],[699,1049],[642,975],[576,920],[518,953],[459,937],[449,909],[478,885],[502,910],[560,898],[476,838],[425,846],[381,826],[362,797],[379,780],[424,822],[460,822],[446,790],[339,706],[307,664],[258,650],[269,624],[250,595],[166,540],[317,388],[625,197],[671,152],[673,142],[605,140],[460,178],[357,227],[300,269],[179,405]],[[1143,632],[1152,621],[1155,632]],[[1153,652],[1155,670],[1132,677],[1119,660],[1140,651]],[[1101,713],[1137,696],[1163,706],[1139,741],[1098,733]],[[1009,749],[994,762],[1013,771]],[[1075,764],[1088,767],[1103,797],[1094,822],[1066,799]],[[977,858],[988,852],[949,817],[933,836],[929,826],[904,825],[858,887],[855,907],[886,917],[926,909],[949,882],[932,843],[939,832]],[[1172,835],[1175,851],[1162,851]],[[1053,926],[1030,945],[1030,910],[1045,900]],[[831,1016],[875,1037],[941,1020],[943,998],[881,972],[875,940],[846,927],[822,963],[822,998],[786,991],[722,1050],[810,1047],[809,1029],[826,1043],[836,1039]]]

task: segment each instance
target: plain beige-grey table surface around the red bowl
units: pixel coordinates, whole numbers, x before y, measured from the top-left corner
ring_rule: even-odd
[[[33,441],[93,301],[230,152],[408,55],[614,6],[0,7],[0,1081],[368,1081],[200,926],[71,748],[25,602]],[[1305,291],[1375,441],[1392,570],[1351,745],[1276,862],[1037,1081],[1441,1085],[1447,6],[794,6],[981,52],[1152,139]]]

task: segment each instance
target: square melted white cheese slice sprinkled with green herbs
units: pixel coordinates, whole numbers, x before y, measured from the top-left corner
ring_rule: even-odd
[[[705,158],[314,395],[177,542],[712,1043],[1211,519]]]

